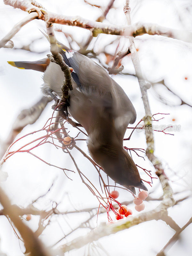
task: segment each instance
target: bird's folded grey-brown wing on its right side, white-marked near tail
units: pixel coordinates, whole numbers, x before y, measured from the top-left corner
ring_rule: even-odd
[[[135,122],[136,111],[132,102],[104,68],[78,52],[63,48],[61,55],[68,66],[73,68],[73,79],[89,100],[96,104],[102,103],[107,112],[112,111],[113,116],[118,117],[117,122],[122,123],[124,127]]]

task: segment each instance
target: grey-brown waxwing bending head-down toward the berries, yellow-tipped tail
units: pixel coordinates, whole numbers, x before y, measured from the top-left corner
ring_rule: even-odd
[[[123,147],[128,124],[136,120],[136,110],[131,100],[105,68],[60,42],[57,45],[63,60],[73,69],[68,113],[86,130],[87,147],[92,159],[112,180],[133,194],[136,194],[135,188],[148,191],[136,164]],[[42,93],[53,99],[56,95],[61,98],[65,76],[60,66],[49,58],[8,63],[20,69],[43,72]]]

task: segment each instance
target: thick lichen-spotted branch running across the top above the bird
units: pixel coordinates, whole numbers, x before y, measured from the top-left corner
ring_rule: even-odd
[[[17,2],[17,3],[16,3]],[[28,2],[29,1],[13,1],[13,0],[4,0],[5,4],[9,4],[15,8],[20,8],[23,11],[28,11]],[[36,10],[36,7],[32,10],[33,12],[38,10],[38,12],[42,12],[46,15],[37,14],[38,19],[46,20],[52,23],[58,23],[69,26],[76,26],[80,28],[89,29],[92,31],[93,36],[98,36],[100,33],[111,34],[111,35],[121,35],[121,36],[141,36],[144,34],[149,35],[161,35],[167,36],[179,40],[183,40],[185,42],[192,42],[192,33],[188,30],[176,30],[171,28],[165,28],[156,24],[151,23],[137,23],[135,25],[130,26],[116,26],[116,25],[108,25],[105,23],[92,21],[83,19],[82,17],[76,16],[67,16],[56,14],[52,12],[48,12],[39,8]],[[31,10],[29,10],[30,12]],[[10,38],[11,39],[11,38]]]

